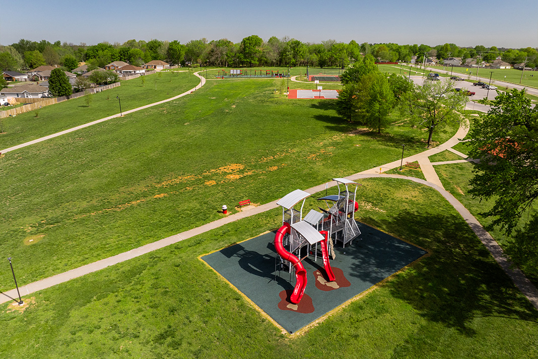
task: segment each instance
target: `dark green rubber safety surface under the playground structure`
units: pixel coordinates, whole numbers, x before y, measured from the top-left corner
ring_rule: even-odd
[[[330,260],[335,281],[326,280],[321,252],[317,261],[313,254],[303,259],[308,284],[298,305],[289,302],[295,285],[293,268],[289,273],[279,271],[276,265],[274,232],[231,245],[202,259],[281,327],[294,333],[427,254],[366,224],[358,223],[358,226],[362,234],[351,244],[345,248],[340,242],[335,245],[336,257]],[[314,249],[313,246],[312,252]],[[301,258],[305,256],[306,248],[303,248]]]

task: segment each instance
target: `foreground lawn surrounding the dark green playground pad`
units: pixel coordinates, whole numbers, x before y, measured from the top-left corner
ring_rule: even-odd
[[[431,255],[305,333],[282,334],[197,259],[277,228],[281,211],[274,209],[34,293],[25,297],[23,313],[18,306],[0,306],[0,353],[6,358],[535,357],[537,312],[447,201],[432,188],[402,179],[360,182],[360,220]],[[309,198],[306,210],[316,208],[315,198],[323,194]]]

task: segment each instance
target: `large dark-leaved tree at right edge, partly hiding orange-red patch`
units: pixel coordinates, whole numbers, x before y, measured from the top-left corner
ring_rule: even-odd
[[[484,215],[511,233],[538,198],[538,111],[531,108],[525,90],[499,93],[469,136],[470,156],[481,159],[470,193],[494,198],[495,205]]]

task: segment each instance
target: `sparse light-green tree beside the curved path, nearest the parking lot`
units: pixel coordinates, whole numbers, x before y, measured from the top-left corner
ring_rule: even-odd
[[[464,94],[455,92],[454,86],[452,81],[425,81],[400,101],[402,115],[428,130],[428,147],[436,129],[448,122],[461,122],[458,110],[462,109]]]

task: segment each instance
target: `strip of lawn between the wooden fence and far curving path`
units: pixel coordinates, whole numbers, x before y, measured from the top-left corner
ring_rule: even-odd
[[[144,83],[143,83],[144,81]],[[2,121],[5,133],[0,133],[0,150],[28,142],[122,111],[165,100],[194,88],[200,79],[188,72],[162,72],[122,81],[121,86],[91,95],[88,107],[85,96],[25,112]]]

